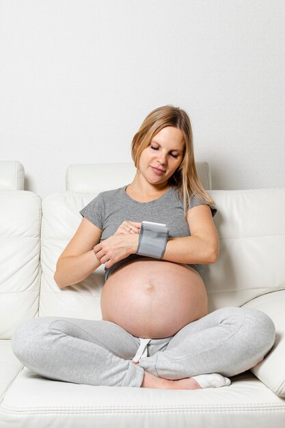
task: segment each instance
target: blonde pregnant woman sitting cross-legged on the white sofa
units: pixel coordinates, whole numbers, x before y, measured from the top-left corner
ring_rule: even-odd
[[[39,317],[18,325],[16,356],[49,379],[199,389],[230,384],[273,346],[260,310],[208,314],[203,265],[215,263],[215,202],[198,178],[187,113],[152,111],[133,137],[133,181],[99,193],[55,271],[63,288],[105,265],[98,321]]]

